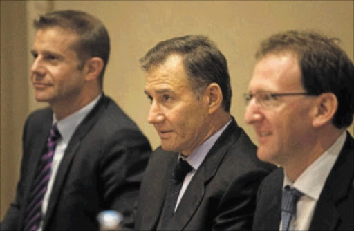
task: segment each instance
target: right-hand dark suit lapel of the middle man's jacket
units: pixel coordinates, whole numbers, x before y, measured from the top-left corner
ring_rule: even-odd
[[[205,187],[218,170],[218,166],[230,147],[236,142],[241,134],[241,129],[236,124],[234,118],[229,126],[216,140],[214,146],[208,152],[205,160],[194,174],[189,183],[176,213],[171,219],[167,230],[183,230],[192,219],[194,212],[198,209],[205,195]]]

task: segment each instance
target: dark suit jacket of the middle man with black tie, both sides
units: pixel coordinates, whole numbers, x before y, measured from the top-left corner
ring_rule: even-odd
[[[136,230],[156,230],[178,154],[157,149],[142,180]],[[257,188],[273,165],[261,163],[234,119],[189,183],[167,230],[250,230]]]

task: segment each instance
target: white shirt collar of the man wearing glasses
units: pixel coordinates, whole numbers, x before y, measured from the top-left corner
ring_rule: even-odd
[[[330,146],[329,149],[324,151],[324,154],[317,158],[317,160],[315,160],[315,162],[312,163],[299,176],[299,178],[297,178],[295,183],[292,183],[284,172],[283,187],[290,185],[290,187],[295,187],[300,192],[318,201],[319,194],[322,192],[324,183],[326,182],[333,165],[335,165],[335,161],[337,160],[345,141],[346,132],[344,131],[339,138],[337,138],[335,143]]]

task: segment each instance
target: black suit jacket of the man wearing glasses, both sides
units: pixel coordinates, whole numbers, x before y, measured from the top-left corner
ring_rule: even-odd
[[[319,195],[309,230],[354,230],[354,142],[346,142]],[[283,169],[272,172],[259,187],[253,230],[279,230]]]

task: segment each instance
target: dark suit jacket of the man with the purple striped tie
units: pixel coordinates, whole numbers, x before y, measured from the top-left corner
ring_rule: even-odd
[[[15,201],[1,230],[21,230],[35,169],[53,122],[51,109],[32,113],[24,127],[24,155]],[[97,213],[113,209],[129,216],[138,196],[151,147],[136,124],[103,96],[77,127],[44,217],[44,230],[97,230]]]

